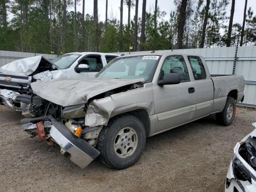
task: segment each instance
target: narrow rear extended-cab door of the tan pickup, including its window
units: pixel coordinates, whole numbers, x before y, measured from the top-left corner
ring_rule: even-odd
[[[188,55],[186,59],[193,73],[192,81],[195,82],[196,112],[193,119],[198,119],[212,112],[214,86],[203,58]]]

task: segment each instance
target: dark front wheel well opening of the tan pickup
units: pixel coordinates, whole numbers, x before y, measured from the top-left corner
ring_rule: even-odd
[[[148,116],[148,112],[144,109],[137,109],[137,110],[133,110],[133,111],[129,111],[126,113],[122,113],[119,115],[125,115],[125,114],[130,114],[133,115],[135,117],[137,117],[143,124],[145,131],[146,131],[146,136],[148,137],[150,134],[150,119]],[[117,115],[117,116],[119,116]],[[116,117],[116,116],[115,116]]]

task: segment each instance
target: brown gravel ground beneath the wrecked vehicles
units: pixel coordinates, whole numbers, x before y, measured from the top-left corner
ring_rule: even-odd
[[[98,160],[81,170],[22,132],[20,113],[0,106],[0,191],[224,191],[232,149],[256,121],[256,110],[238,112],[231,126],[209,116],[147,138],[139,161],[125,170]]]

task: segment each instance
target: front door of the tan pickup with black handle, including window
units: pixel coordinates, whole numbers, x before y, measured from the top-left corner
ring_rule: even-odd
[[[166,56],[159,72],[158,81],[166,73],[177,73],[180,84],[154,85],[156,133],[185,124],[193,119],[196,111],[195,81],[191,81],[182,55]]]

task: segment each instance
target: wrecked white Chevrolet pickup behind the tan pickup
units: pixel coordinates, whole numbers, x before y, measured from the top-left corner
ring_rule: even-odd
[[[44,56],[16,60],[0,68],[0,104],[30,110],[30,83],[64,77],[94,77],[117,54],[75,52],[50,61]]]

